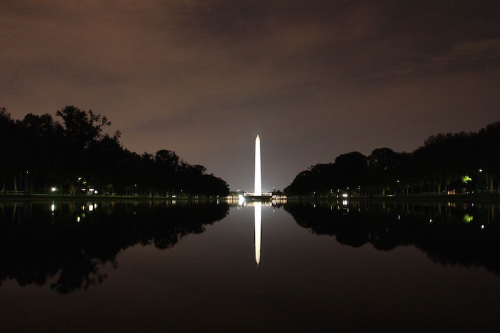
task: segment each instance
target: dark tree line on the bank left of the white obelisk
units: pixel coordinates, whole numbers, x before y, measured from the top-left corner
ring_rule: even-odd
[[[226,196],[229,186],[172,150],[142,155],[124,148],[121,133],[92,110],[68,105],[55,114],[11,118],[0,109],[1,193],[105,196]]]

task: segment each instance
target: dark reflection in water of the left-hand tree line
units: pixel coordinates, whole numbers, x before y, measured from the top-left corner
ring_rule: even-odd
[[[121,251],[138,243],[172,248],[228,211],[223,202],[2,203],[0,285],[14,279],[21,286],[50,281],[63,294],[87,289],[107,278],[103,265],[118,266]]]

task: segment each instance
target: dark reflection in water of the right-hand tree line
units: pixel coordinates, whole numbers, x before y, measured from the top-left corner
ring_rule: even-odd
[[[288,202],[297,224],[344,245],[414,245],[434,263],[500,274],[500,205],[418,202]]]

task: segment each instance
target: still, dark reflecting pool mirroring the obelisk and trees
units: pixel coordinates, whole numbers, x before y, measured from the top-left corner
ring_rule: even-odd
[[[0,330],[499,331],[499,217],[472,203],[0,202]]]

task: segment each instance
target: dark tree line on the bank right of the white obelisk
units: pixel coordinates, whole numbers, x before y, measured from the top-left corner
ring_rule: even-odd
[[[289,196],[410,196],[500,192],[500,122],[477,132],[440,133],[413,152],[377,148],[312,165],[284,189]]]

